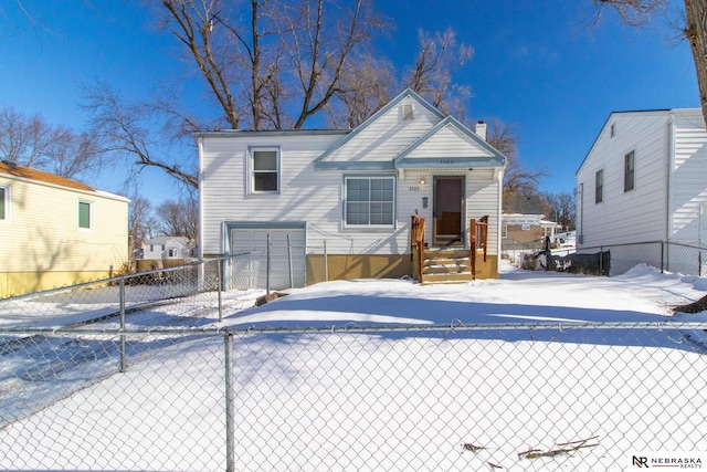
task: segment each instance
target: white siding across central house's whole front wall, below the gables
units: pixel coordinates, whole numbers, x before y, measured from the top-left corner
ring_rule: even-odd
[[[224,251],[224,222],[306,222],[308,252],[320,253],[324,242],[331,254],[404,254],[410,248],[410,219],[415,210],[430,222],[432,240],[432,176],[466,176],[466,221],[488,214],[489,253],[497,250],[498,181],[493,170],[451,172],[447,169],[407,170],[404,179],[394,172],[347,172],[314,170],[314,160],[336,136],[243,136],[203,137],[201,174],[201,244],[204,254]],[[279,195],[247,195],[245,158],[251,146],[279,146],[282,188]],[[451,172],[451,174],[450,174]],[[393,229],[348,229],[342,223],[345,176],[390,175],[397,180]],[[425,183],[420,185],[420,178]],[[428,197],[429,208],[422,208]]]

